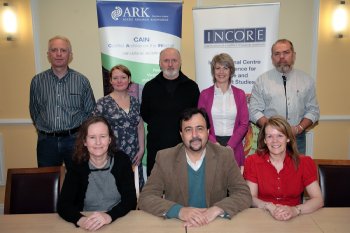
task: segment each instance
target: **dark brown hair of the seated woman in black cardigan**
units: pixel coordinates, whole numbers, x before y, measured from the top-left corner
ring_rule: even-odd
[[[114,136],[111,126],[109,125],[108,121],[104,117],[92,116],[88,118],[86,121],[84,121],[79,129],[78,136],[75,141],[75,150],[73,153],[74,162],[82,163],[90,159],[89,151],[84,145],[84,143],[86,141],[86,137],[88,135],[88,130],[90,125],[96,124],[99,122],[105,124],[108,127],[108,134],[109,134],[109,137],[111,138],[111,143],[108,146],[108,155],[114,156],[115,152],[117,151],[117,145],[116,145],[116,138]]]

